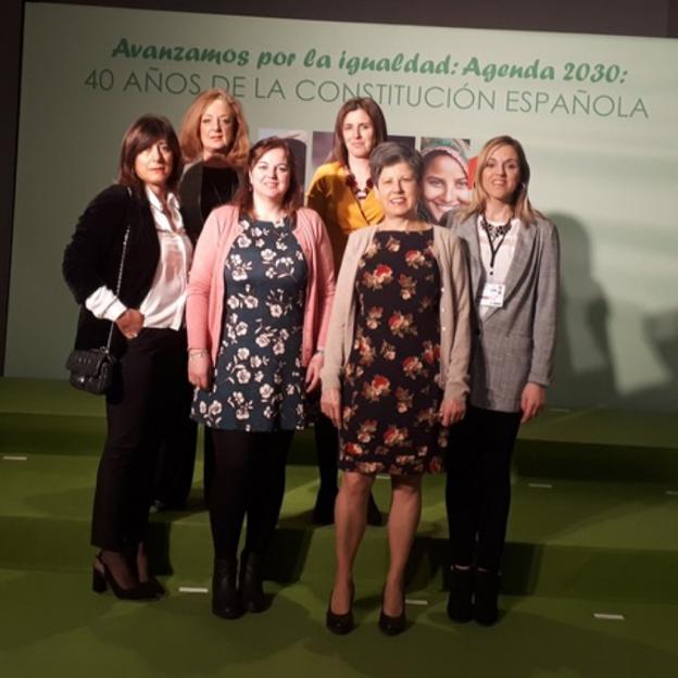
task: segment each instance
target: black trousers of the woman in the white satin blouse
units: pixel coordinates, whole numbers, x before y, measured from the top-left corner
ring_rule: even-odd
[[[186,332],[142,329],[116,364],[106,393],[91,543],[122,552],[146,537],[159,449],[178,440],[189,416]]]

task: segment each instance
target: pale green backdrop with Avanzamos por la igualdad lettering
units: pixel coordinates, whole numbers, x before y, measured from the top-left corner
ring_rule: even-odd
[[[391,134],[474,150],[519,138],[563,244],[551,403],[675,410],[676,63],[670,39],[29,3],[5,374],[64,376],[76,307],[60,267],[78,214],[112,181],[134,118],[178,126],[216,85],[241,99],[253,138],[330,130],[351,96],[373,96]]]

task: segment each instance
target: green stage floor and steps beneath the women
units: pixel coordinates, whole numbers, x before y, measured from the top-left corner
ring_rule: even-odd
[[[269,611],[226,622],[210,614],[208,593],[180,590],[210,585],[199,484],[187,511],[152,518],[170,595],[137,604],[91,593],[101,405],[64,382],[0,379],[3,678],[678,674],[675,415],[551,411],[522,430],[504,614],[490,629],[447,619],[443,478],[427,477],[409,568],[411,628],[390,639],[376,628],[384,528],[367,529],[356,564],[359,628],[346,638],[324,628],[334,531],[310,524],[317,480],[307,432],[296,440],[266,565]],[[375,492],[386,511],[388,480]]]

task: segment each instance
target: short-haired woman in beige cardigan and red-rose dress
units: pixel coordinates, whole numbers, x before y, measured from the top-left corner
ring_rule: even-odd
[[[447,427],[466,409],[467,268],[461,240],[416,217],[422,158],[387,142],[371,156],[385,219],[349,238],[332,309],[322,406],[340,430],[337,572],[327,626],[353,627],[353,563],[377,473],[391,476],[389,570],[379,627],[405,628],[403,578],[422,474],[442,469]]]

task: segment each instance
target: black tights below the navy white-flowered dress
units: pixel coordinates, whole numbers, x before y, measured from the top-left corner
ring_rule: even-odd
[[[294,431],[213,429],[211,434],[215,454],[209,505],[214,555],[236,557],[247,515],[244,550],[263,557],[280,514]]]

